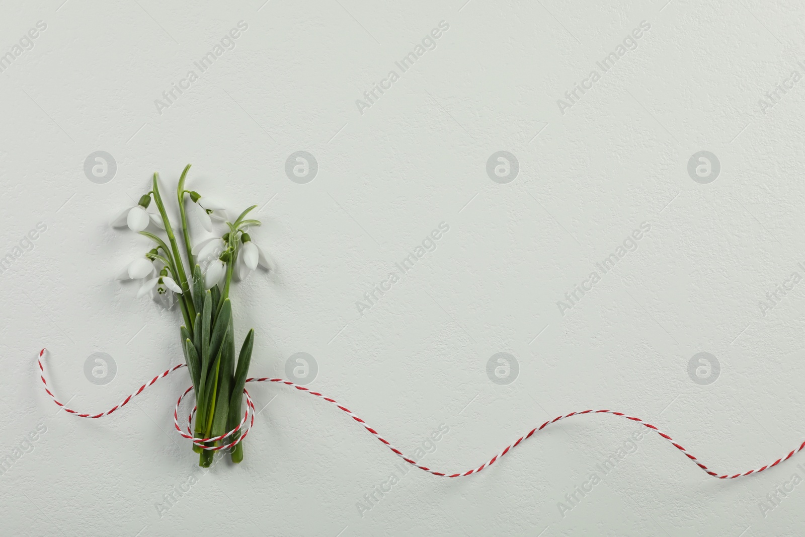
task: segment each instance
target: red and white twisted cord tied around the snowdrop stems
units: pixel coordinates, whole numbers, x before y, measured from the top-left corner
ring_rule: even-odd
[[[79,413],[78,411],[74,411],[71,408],[65,407],[64,403],[60,403],[60,401],[58,399],[56,399],[56,396],[47,387],[47,381],[45,380],[45,377],[44,377],[44,368],[43,368],[43,365],[42,365],[42,357],[43,357],[44,353],[45,353],[45,349],[42,349],[42,351],[39,353],[39,358],[37,359],[37,363],[39,364],[39,371],[41,373],[39,378],[42,379],[42,382],[43,382],[43,384],[45,386],[45,391],[47,391],[47,394],[51,396],[51,398],[53,399],[53,402],[56,403],[57,405],[59,405],[60,407],[62,407],[64,409],[64,411],[69,412],[72,415],[77,415],[80,418],[93,418],[94,419],[94,418],[100,418],[100,417],[105,416],[105,415],[109,415],[112,412],[118,410],[118,408],[126,406],[126,404],[129,403],[129,401],[133,397],[141,394],[143,390],[145,390],[148,386],[151,386],[152,384],[157,382],[160,378],[167,377],[168,374],[173,373],[175,370],[179,370],[180,368],[185,367],[184,364],[180,364],[178,366],[171,367],[171,369],[166,370],[163,374],[159,374],[156,377],[152,378],[151,382],[147,382],[146,384],[143,384],[142,386],[140,386],[139,389],[134,392],[134,394],[130,394],[129,396],[127,396],[126,399],[124,399],[122,403],[120,403],[118,405],[115,405],[114,407],[112,407],[108,411],[101,412],[100,414],[94,414],[93,415],[93,414],[84,414],[84,413]],[[773,468],[774,466],[780,464],[783,461],[787,461],[792,456],[794,456],[795,453],[798,453],[798,452],[802,451],[803,448],[805,448],[805,441],[803,441],[802,444],[799,444],[799,448],[792,449],[791,452],[788,453],[788,455],[779,458],[777,461],[774,461],[770,465],[765,465],[765,466],[762,466],[761,468],[749,470],[748,472],[744,472],[744,473],[735,473],[735,474],[732,474],[732,475],[730,475],[730,474],[719,474],[719,473],[713,472],[712,470],[708,469],[708,467],[703,465],[696,458],[696,456],[691,455],[691,453],[687,452],[687,449],[685,449],[681,445],[677,444],[674,441],[674,439],[671,438],[671,436],[668,436],[664,432],[660,431],[658,428],[654,427],[654,425],[652,425],[651,423],[646,423],[645,421],[643,421],[640,418],[635,418],[634,416],[625,415],[625,414],[623,414],[621,412],[610,411],[610,410],[598,410],[598,411],[597,410],[586,410],[586,411],[579,411],[579,412],[571,412],[570,414],[560,415],[560,416],[555,417],[554,419],[549,419],[547,422],[543,423],[539,427],[531,429],[530,432],[528,432],[526,435],[520,436],[517,440],[514,441],[513,444],[507,445],[506,448],[503,448],[503,450],[501,452],[499,452],[497,455],[493,456],[490,461],[485,462],[484,464],[482,464],[478,468],[471,469],[471,470],[469,470],[467,472],[464,472],[464,473],[451,473],[451,474],[448,474],[448,473],[444,473],[444,472],[436,472],[436,470],[427,468],[427,466],[419,465],[419,463],[417,463],[416,461],[414,461],[411,458],[403,455],[403,452],[401,452],[398,448],[395,448],[394,445],[392,445],[388,440],[386,440],[385,438],[380,436],[380,434],[374,428],[369,427],[369,425],[367,425],[366,422],[363,419],[357,417],[357,415],[355,415],[353,413],[353,411],[350,411],[349,408],[342,406],[335,399],[325,397],[323,394],[320,394],[319,392],[309,390],[308,388],[306,388],[304,386],[299,386],[299,385],[297,385],[297,384],[295,384],[295,383],[293,383],[291,381],[283,380],[282,378],[268,378],[268,377],[247,378],[246,382],[278,382],[279,384],[284,384],[286,386],[294,387],[297,390],[302,391],[302,392],[304,392],[306,394],[314,395],[314,396],[316,396],[316,397],[318,397],[320,399],[323,399],[324,401],[327,401],[328,403],[332,403],[336,407],[338,407],[339,410],[344,411],[347,415],[349,415],[350,418],[352,418],[355,421],[357,421],[357,423],[361,423],[361,426],[363,428],[365,428],[366,431],[370,432],[375,438],[380,440],[383,444],[386,444],[386,447],[389,448],[396,455],[400,456],[403,459],[403,461],[406,461],[408,464],[413,465],[416,468],[419,468],[421,470],[424,470],[427,473],[432,473],[435,476],[443,476],[443,477],[463,477],[463,476],[469,476],[471,473],[478,473],[482,469],[485,469],[486,467],[493,465],[502,456],[504,456],[504,455],[506,455],[506,453],[510,452],[511,449],[516,448],[518,445],[520,445],[520,443],[522,443],[523,440],[528,440],[531,436],[534,436],[535,432],[542,431],[543,428],[546,428],[551,423],[556,423],[560,419],[567,419],[567,418],[569,418],[571,416],[584,415],[584,414],[611,414],[611,415],[621,416],[622,418],[629,419],[630,421],[640,423],[642,426],[644,426],[646,428],[650,428],[651,430],[656,432],[659,436],[662,436],[665,440],[668,440],[669,442],[671,442],[671,445],[673,445],[675,448],[679,449],[680,452],[683,452],[685,454],[685,456],[687,456],[688,459],[693,461],[696,464],[696,466],[698,466],[700,469],[704,470],[704,472],[708,473],[708,475],[710,475],[712,477],[718,477],[719,479],[735,479],[736,477],[748,476],[750,473],[762,472],[763,470]],[[192,418],[193,418],[193,415],[195,415],[195,413],[196,413],[196,408],[194,407],[192,412],[188,416],[187,433],[183,432],[181,430],[181,428],[180,428],[180,425],[179,425],[179,406],[180,406],[180,403],[182,403],[182,399],[184,399],[184,397],[187,396],[192,391],[192,389],[193,389],[193,386],[190,386],[187,390],[184,391],[184,394],[180,395],[179,400],[176,401],[176,407],[175,407],[174,412],[173,412],[175,428],[176,428],[176,431],[178,431],[181,436],[183,436],[184,438],[187,438],[188,440],[192,440],[195,444],[202,445],[204,443],[215,442],[217,440],[223,440],[227,436],[232,435],[234,432],[242,431],[242,435],[238,436],[237,440],[233,440],[233,442],[231,442],[229,444],[221,445],[221,446],[203,446],[204,449],[211,449],[211,450],[219,450],[219,449],[231,448],[235,444],[237,444],[238,442],[240,442],[241,440],[246,438],[246,435],[249,434],[250,428],[252,427],[252,425],[254,425],[254,403],[252,403],[252,399],[249,396],[249,392],[246,391],[246,390],[243,390],[243,392],[246,394],[246,413],[243,415],[243,419],[241,420],[241,423],[239,423],[237,425],[237,428],[234,428],[232,431],[229,431],[229,432],[227,432],[227,433],[225,433],[224,435],[221,435],[221,436],[215,436],[215,437],[212,437],[212,438],[195,438],[192,435],[192,433],[190,432]],[[246,421],[249,421],[248,425],[246,425]]]

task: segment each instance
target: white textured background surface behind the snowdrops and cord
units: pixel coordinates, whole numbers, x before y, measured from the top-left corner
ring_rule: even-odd
[[[803,535],[802,455],[718,481],[649,435],[604,476],[638,427],[584,416],[477,476],[412,469],[361,512],[399,459],[328,404],[253,386],[265,408],[246,460],[203,473],[171,431],[184,371],[81,420],[34,370],[47,346],[56,393],[101,411],[181,360],[178,310],[114,281],[146,239],[108,222],[151,172],[172,188],[192,163],[190,188],[260,206],[254,240],[278,266],[233,295],[238,339],[256,328],[252,373],[285,376],[310,353],[310,386],[404,451],[448,427],[424,464],[464,471],[585,408],[655,423],[720,473],[774,461],[803,440],[805,409],[801,2],[62,2],[0,16],[0,55],[47,25],[0,76],[4,535]],[[233,50],[160,114],[155,99],[239,21]],[[436,48],[401,72],[440,21]],[[105,184],[85,176],[93,151],[117,163]],[[307,184],[285,173],[295,151],[318,162]],[[486,171],[497,151],[518,160],[507,184]],[[720,161],[715,181],[689,176],[698,151]],[[436,250],[361,316],[356,301],[440,222]],[[598,270],[642,222],[638,249]],[[97,352],[117,365],[105,385],[84,373]],[[507,385],[486,370],[501,352],[519,366]],[[689,374],[700,352],[716,382]],[[568,503],[591,473],[602,482]]]

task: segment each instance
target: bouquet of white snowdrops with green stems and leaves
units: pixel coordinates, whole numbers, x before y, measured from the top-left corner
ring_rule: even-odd
[[[208,439],[237,428],[241,421],[243,387],[249,372],[254,328],[246,335],[240,353],[235,355],[235,337],[229,286],[233,275],[243,279],[258,266],[270,270],[266,254],[251,240],[247,230],[260,222],[247,218],[257,205],[252,205],[233,222],[229,221],[220,204],[198,192],[184,189],[190,164],[184,168],[176,188],[181,218],[181,236],[177,240],[159,194],[159,176],[154,174],[151,191],[143,194],[137,205],[126,209],[112,221],[114,227],[126,227],[151,239],[154,247],[134,259],[118,279],[139,279],[142,285],[138,297],[151,295],[165,308],[175,303],[184,317],[180,327],[184,361],[192,378],[196,394],[195,436]],[[157,213],[148,210],[154,201]],[[187,208],[185,207],[187,204]],[[191,245],[188,229],[188,210],[208,233],[213,232],[213,219],[224,221],[226,231]],[[147,231],[155,225],[167,235],[167,242],[158,234]],[[157,232],[161,234],[161,232]],[[183,243],[180,247],[180,242]],[[183,258],[184,255],[184,258]],[[192,267],[191,277],[184,263]],[[229,444],[240,436],[234,432],[217,443],[194,442],[199,453],[199,465],[208,467],[213,450],[204,446]],[[230,452],[233,462],[243,460],[243,442]]]

